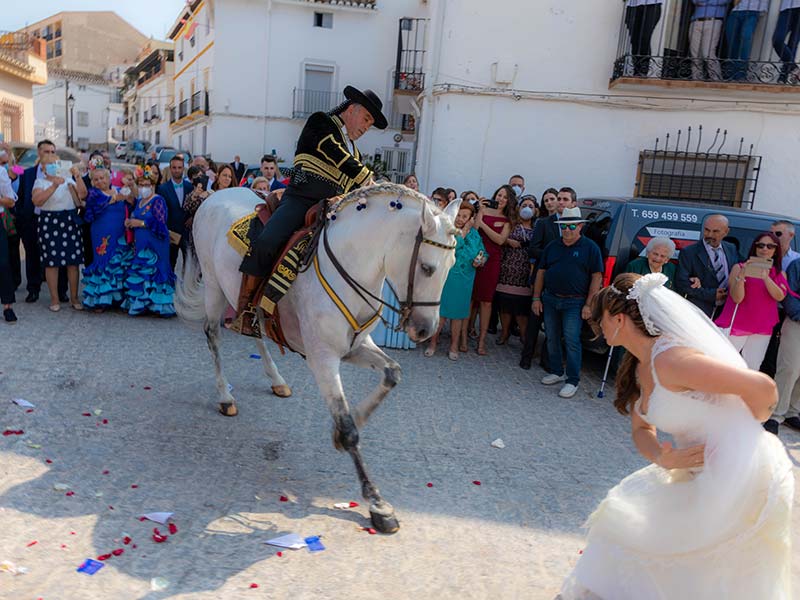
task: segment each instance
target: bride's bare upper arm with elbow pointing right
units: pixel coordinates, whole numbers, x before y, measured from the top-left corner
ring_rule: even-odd
[[[673,391],[696,390],[710,394],[735,394],[759,421],[770,418],[778,404],[775,382],[758,371],[736,367],[689,348],[672,348],[655,360],[656,373]]]

